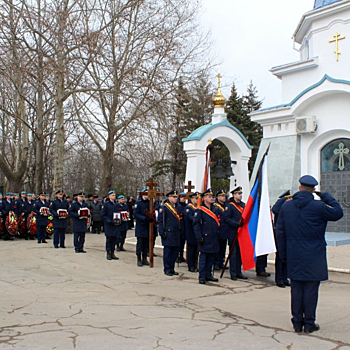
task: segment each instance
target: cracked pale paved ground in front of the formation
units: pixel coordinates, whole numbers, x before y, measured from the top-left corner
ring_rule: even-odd
[[[88,235],[87,254],[74,253],[71,235],[65,250],[1,241],[0,349],[350,349],[349,274],[331,273],[321,286],[321,330],[298,335],[290,290],[273,276],[227,274],[202,286],[185,264],[167,277],[160,257],[139,268],[135,247],[126,248],[107,261],[103,235]],[[331,247],[330,265],[339,255],[348,269],[349,250]]]

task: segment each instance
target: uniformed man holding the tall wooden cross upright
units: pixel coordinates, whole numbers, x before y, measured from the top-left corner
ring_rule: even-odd
[[[141,191],[141,196],[135,204],[134,216],[136,219],[135,237],[137,266],[149,265],[147,254],[149,250],[149,224],[153,222],[153,218],[147,216],[149,210],[149,199],[147,188]],[[141,259],[142,255],[142,259]]]

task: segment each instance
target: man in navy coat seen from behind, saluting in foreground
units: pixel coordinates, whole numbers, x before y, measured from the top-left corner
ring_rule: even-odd
[[[312,333],[320,329],[315,323],[320,281],[328,279],[327,222],[341,219],[343,210],[330,194],[315,192],[314,177],[305,175],[299,182],[299,192],[282,205],[276,238],[291,279],[294,330]]]

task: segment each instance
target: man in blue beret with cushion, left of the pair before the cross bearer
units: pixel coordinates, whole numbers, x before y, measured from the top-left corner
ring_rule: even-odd
[[[118,260],[115,256],[115,246],[119,235],[118,226],[121,224],[120,214],[118,212],[117,202],[115,200],[115,191],[108,192],[108,198],[103,203],[101,217],[106,236],[107,260]]]

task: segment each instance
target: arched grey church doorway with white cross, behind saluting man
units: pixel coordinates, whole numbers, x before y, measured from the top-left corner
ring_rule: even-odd
[[[350,139],[338,138],[321,149],[321,191],[329,192],[344,210],[344,217],[329,222],[327,231],[350,232]]]

